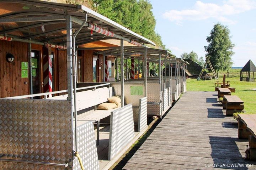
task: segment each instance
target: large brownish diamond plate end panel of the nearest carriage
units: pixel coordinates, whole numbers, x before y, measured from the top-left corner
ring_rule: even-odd
[[[66,164],[72,159],[71,101],[0,99],[0,157]],[[0,162],[4,169],[65,168]],[[70,169],[70,168],[67,168]]]

